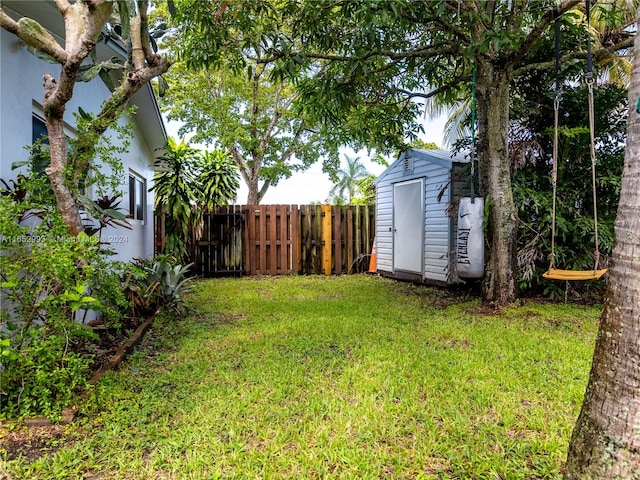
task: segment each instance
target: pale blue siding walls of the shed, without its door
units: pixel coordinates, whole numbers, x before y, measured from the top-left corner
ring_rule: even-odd
[[[421,280],[425,283],[450,284],[455,272],[450,253],[455,250],[455,217],[447,209],[462,186],[452,182],[456,162],[445,154],[429,157],[425,151],[409,150],[394,162],[376,184],[376,259],[383,275],[396,275],[393,268],[393,186],[412,179],[424,179],[424,265]],[[407,170],[407,162],[413,168]]]

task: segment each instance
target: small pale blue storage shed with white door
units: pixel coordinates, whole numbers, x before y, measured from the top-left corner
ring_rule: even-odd
[[[379,274],[434,285],[460,282],[454,258],[456,200],[469,193],[468,162],[444,150],[410,149],[378,177]]]

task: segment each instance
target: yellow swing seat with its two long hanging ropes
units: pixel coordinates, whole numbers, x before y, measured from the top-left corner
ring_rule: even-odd
[[[589,23],[589,0],[586,0],[587,10],[587,24]],[[553,128],[553,207],[551,213],[551,255],[549,255],[550,263],[549,269],[542,276],[548,280],[597,280],[607,273],[606,268],[599,268],[600,266],[600,251],[598,242],[598,209],[597,209],[597,196],[596,196],[596,152],[595,152],[595,138],[594,138],[594,106],[593,106],[593,64],[591,60],[591,42],[587,37],[587,85],[589,88],[589,134],[591,140],[591,180],[593,188],[593,225],[594,225],[594,239],[595,239],[595,263],[592,270],[562,270],[556,268],[555,259],[555,237],[556,237],[556,185],[558,179],[558,110],[560,106],[559,95],[559,79],[558,70],[560,63],[560,17],[556,16],[555,23],[556,33],[556,98],[553,104],[554,109],[554,128]]]

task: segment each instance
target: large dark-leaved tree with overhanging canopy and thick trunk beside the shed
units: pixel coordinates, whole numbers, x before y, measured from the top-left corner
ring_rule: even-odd
[[[615,52],[631,46],[634,12],[623,3],[595,4],[591,18],[606,28],[594,29],[580,0],[225,2],[216,16],[207,14],[210,6],[184,2],[195,11],[190,41],[233,48],[225,32],[231,26],[243,32],[242,48],[264,51],[258,61],[275,61],[275,75],[295,79],[305,112],[352,145],[395,148],[420,131],[424,101],[454,103],[475,89],[480,190],[489,199],[490,261],[483,292],[500,305],[517,297],[518,215],[507,141],[514,84],[533,82],[536,72],[553,66],[553,49],[542,47],[553,35],[556,17],[568,33],[560,51],[563,65],[584,65],[587,45],[598,64],[611,64]],[[256,16],[283,28],[256,34],[250,28]],[[191,60],[215,63],[207,54]],[[320,74],[307,75],[318,61]],[[585,69],[576,70],[575,80],[580,70]]]

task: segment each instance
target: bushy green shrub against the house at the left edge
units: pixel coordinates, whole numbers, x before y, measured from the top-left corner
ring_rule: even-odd
[[[84,385],[97,340],[89,310],[118,326],[128,310],[117,262],[97,237],[69,236],[46,177],[0,192],[0,416],[55,417]]]

